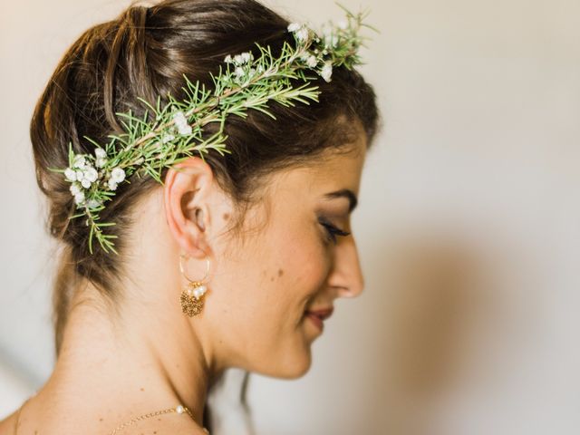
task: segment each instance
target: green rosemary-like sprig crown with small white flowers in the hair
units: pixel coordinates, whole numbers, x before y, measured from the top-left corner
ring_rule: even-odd
[[[340,6],[340,5],[339,5]],[[259,57],[251,52],[227,55],[218,75],[211,75],[213,89],[207,90],[199,82],[192,83],[185,76],[186,87],[182,88],[187,98],[177,101],[168,94],[168,103],[156,107],[138,97],[145,104],[142,119],[131,111],[117,112],[121,117],[124,133],[109,135],[109,143],[102,146],[83,136],[94,146],[93,154],[76,154],[69,142],[69,166],[66,169],[50,169],[61,172],[71,183],[71,193],[79,213],[72,218],[85,217],[90,227],[89,251],[92,254],[92,240],[96,237],[102,249],[118,254],[112,239],[117,236],[106,234],[104,228],[115,225],[102,222],[99,213],[105,203],[115,195],[121,182],[131,183],[131,175],[149,175],[163,184],[161,171],[197,153],[203,159],[204,153],[216,150],[220,155],[230,152],[226,148],[227,136],[224,124],[229,114],[247,117],[247,109],[262,111],[275,120],[268,111],[267,102],[274,101],[284,106],[295,106],[295,102],[309,104],[318,102],[318,86],[309,82],[322,77],[332,80],[333,67],[344,65],[352,69],[362,64],[358,49],[364,46],[359,35],[368,14],[352,14],[343,6],[346,20],[334,25],[323,26],[324,34],[318,36],[305,24],[293,23],[287,31],[294,34],[295,46],[284,43],[279,56],[274,57],[270,47],[259,43]],[[307,72],[315,74],[307,74]],[[292,87],[291,80],[301,79],[304,84]],[[149,112],[154,119],[149,120]],[[203,127],[218,122],[218,131],[209,138],[203,137]]]

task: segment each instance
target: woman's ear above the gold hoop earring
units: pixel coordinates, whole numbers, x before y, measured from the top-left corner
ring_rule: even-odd
[[[208,163],[191,157],[167,172],[163,197],[171,235],[189,256],[211,255],[207,231],[211,225],[211,196],[216,193]]]

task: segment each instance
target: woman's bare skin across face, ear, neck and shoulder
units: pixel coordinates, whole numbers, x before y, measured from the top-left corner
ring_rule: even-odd
[[[85,285],[64,332],[54,370],[21,413],[18,433],[109,433],[132,417],[182,403],[202,420],[208,388],[228,367],[278,378],[304,375],[321,332],[304,310],[362,291],[353,236],[329,237],[320,218],[350,231],[349,199],[359,191],[366,139],[308,167],[268,176],[239,232],[237,208],[198,158],[170,169],[164,186],[140,199],[128,237],[118,315]],[[211,263],[203,312],[181,313],[187,274]],[[337,314],[334,314],[337,315]],[[338,314],[340,315],[340,314]],[[0,422],[13,433],[14,414]],[[121,433],[199,433],[165,414]]]

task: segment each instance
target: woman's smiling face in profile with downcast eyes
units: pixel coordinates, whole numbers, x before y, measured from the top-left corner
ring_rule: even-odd
[[[228,365],[280,378],[303,375],[322,333],[306,310],[361,293],[354,237],[340,231],[351,231],[365,153],[361,135],[352,152],[275,173],[247,212],[242,239],[224,245],[205,310]]]

